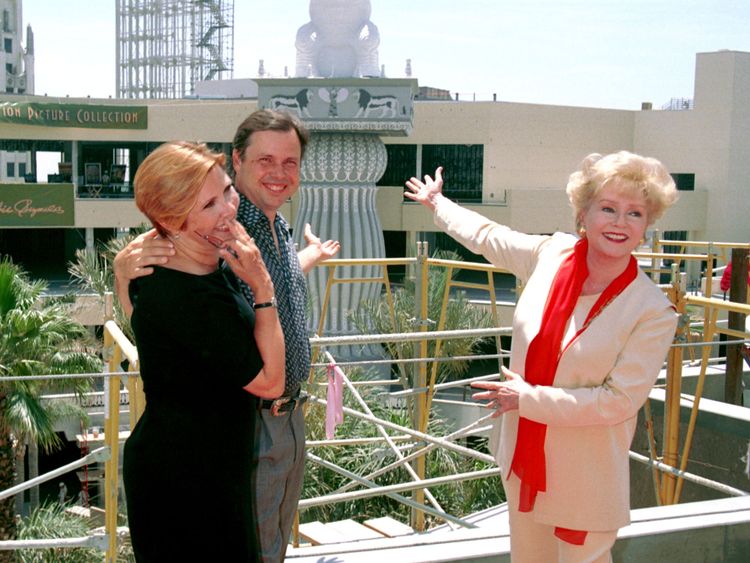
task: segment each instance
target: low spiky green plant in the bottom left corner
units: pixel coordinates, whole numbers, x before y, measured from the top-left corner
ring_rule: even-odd
[[[88,523],[79,516],[65,512],[58,503],[40,506],[22,520],[18,539],[81,538],[89,535]],[[24,563],[98,563],[104,554],[92,548],[21,549],[18,556]]]

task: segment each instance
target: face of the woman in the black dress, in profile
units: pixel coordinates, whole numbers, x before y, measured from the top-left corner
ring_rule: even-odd
[[[237,216],[240,198],[232,187],[232,180],[221,166],[211,168],[201,187],[190,213],[181,230],[183,238],[194,242],[197,248],[211,251],[218,255],[204,236],[218,237],[227,240],[229,224]]]

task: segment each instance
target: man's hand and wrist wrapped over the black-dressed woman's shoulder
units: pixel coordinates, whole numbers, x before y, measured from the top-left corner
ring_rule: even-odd
[[[174,245],[170,240],[160,237],[156,229],[138,235],[117,253],[112,263],[115,293],[128,318],[133,314],[133,304],[128,295],[130,280],[148,276],[153,273],[154,265],[166,264],[172,255]]]

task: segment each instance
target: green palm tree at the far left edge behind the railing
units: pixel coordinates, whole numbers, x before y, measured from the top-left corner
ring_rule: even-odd
[[[71,318],[65,300],[43,299],[45,289],[45,282],[31,281],[10,259],[0,261],[0,490],[14,484],[18,445],[28,441],[45,451],[59,447],[55,421],[81,412],[73,405],[45,404],[42,394],[81,394],[90,387],[88,378],[9,378],[101,370],[86,329]],[[0,501],[0,539],[15,537],[14,516],[13,498]]]

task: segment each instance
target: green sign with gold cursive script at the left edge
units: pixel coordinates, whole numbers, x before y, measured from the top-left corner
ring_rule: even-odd
[[[73,227],[73,184],[0,184],[0,228]]]

